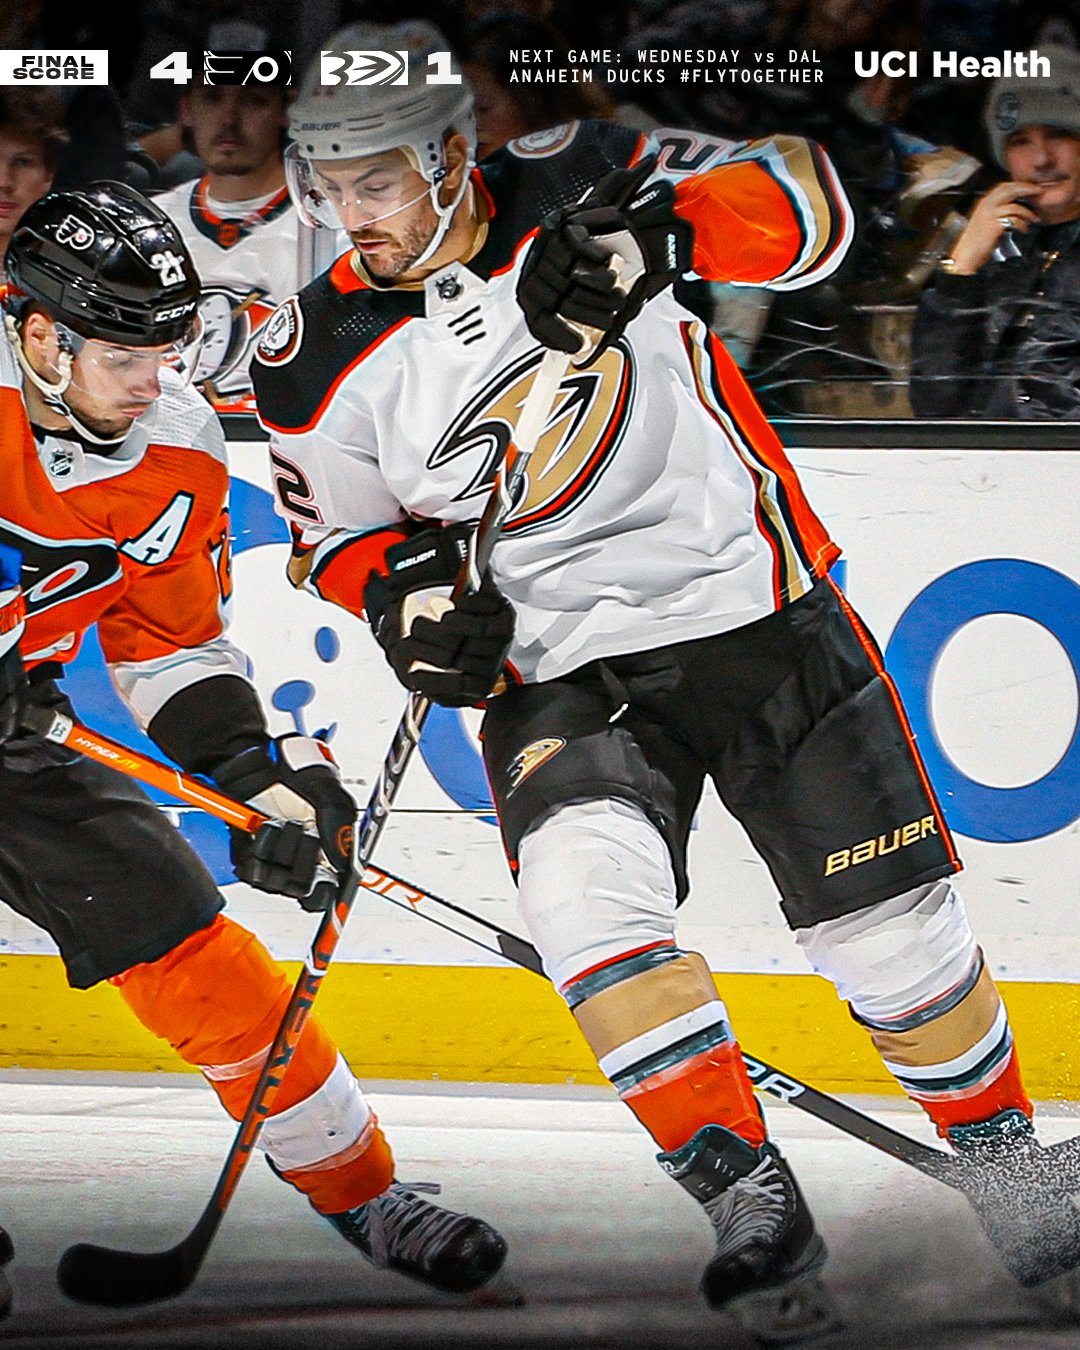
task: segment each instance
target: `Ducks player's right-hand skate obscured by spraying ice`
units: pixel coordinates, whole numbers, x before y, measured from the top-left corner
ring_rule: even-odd
[[[1076,1280],[1080,1264],[1080,1156],[1064,1145],[1044,1149],[1022,1111],[999,1111],[948,1131],[965,1164],[964,1191],[1021,1284]]]

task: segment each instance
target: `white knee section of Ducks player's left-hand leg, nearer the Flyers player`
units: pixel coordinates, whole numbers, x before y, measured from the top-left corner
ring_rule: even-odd
[[[560,806],[529,830],[520,859],[521,913],[560,992],[593,967],[675,941],[671,855],[636,806]]]

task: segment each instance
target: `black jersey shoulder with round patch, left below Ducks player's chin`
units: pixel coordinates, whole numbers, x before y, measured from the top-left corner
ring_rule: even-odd
[[[423,313],[423,292],[374,290],[339,259],[267,319],[251,360],[259,418],[274,431],[309,429],[342,378]]]

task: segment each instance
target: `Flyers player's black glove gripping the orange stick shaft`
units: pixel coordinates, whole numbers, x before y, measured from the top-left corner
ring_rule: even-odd
[[[292,895],[319,913],[352,864],[356,803],[342,787],[332,755],[309,736],[278,736],[213,771],[217,786],[273,817],[256,834],[230,830],[232,867],[261,891]],[[327,869],[327,864],[332,872]]]

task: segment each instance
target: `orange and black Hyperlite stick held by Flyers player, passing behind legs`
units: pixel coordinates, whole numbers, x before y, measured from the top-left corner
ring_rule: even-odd
[[[86,726],[81,726],[62,713],[42,709],[38,710],[36,716],[31,714],[27,722],[46,738],[68,745],[101,764],[108,764],[119,770],[122,774],[159,787],[180,801],[201,807],[211,815],[216,815],[219,819],[238,829],[254,833],[269,819],[269,817],[242,802],[234,801],[200,779],[130,749],[119,741],[109,740],[107,736],[101,736]],[[526,971],[532,971],[535,975],[544,975],[540,953],[531,942],[514,933],[509,933],[489,919],[481,918],[471,910],[455,905],[452,900],[446,900],[432,891],[416,886],[413,882],[408,882],[393,872],[373,865],[370,861],[364,867],[360,886],[390,905],[408,910],[410,914],[418,914],[421,918],[428,919],[428,922],[436,923],[450,933],[455,933],[475,946],[501,956]],[[941,1149],[913,1139],[910,1135],[894,1130],[891,1126],[872,1116],[864,1115],[838,1098],[829,1096],[826,1092],[819,1092],[817,1088],[801,1083],[790,1073],[783,1073],[764,1060],[747,1053],[747,1050],[742,1052],[742,1058],[759,1091],[767,1092],[780,1102],[796,1106],[818,1120],[824,1120],[826,1125],[842,1130],[845,1134],[861,1139],[864,1143],[872,1145],[882,1153],[896,1158],[896,1161],[915,1168],[937,1181],[944,1181],[946,1185],[954,1187],[964,1192],[976,1207],[994,1203],[994,1197],[987,1196],[987,1180],[981,1176],[981,1169],[967,1158],[945,1153]],[[1042,1161],[1046,1177],[1054,1177],[1057,1169],[1062,1166],[1065,1170],[1061,1174],[1065,1179],[1075,1177],[1077,1165],[1080,1165],[1080,1153],[1077,1149],[1080,1149],[1080,1143],[1076,1139],[1068,1139],[1050,1149],[1045,1149],[1042,1152]],[[1069,1187],[1058,1183],[1057,1189],[1060,1192],[1062,1222],[1068,1230],[1057,1264],[1062,1269],[1071,1269],[1069,1262],[1073,1256],[1076,1261],[1080,1261],[1080,1250],[1076,1247],[1077,1239],[1075,1237],[1069,1238],[1075,1210],[1066,1193]],[[97,1251],[103,1249],[94,1247],[89,1250]],[[63,1288],[74,1297],[88,1297],[85,1287],[76,1288],[63,1282]],[[92,1301],[104,1300],[101,1297],[92,1297]],[[113,1297],[109,1301],[122,1300]]]

